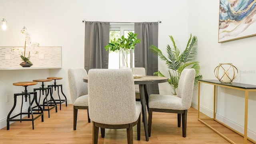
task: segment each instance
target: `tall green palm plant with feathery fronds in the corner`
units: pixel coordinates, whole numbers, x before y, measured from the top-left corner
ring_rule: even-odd
[[[154,45],[150,45],[150,49],[153,53],[158,55],[158,57],[166,62],[166,65],[168,67],[168,73],[170,75],[170,78],[168,78],[168,83],[172,87],[172,90],[174,91],[173,95],[176,95],[177,89],[178,89],[178,83],[180,79],[180,74],[185,68],[193,68],[196,70],[196,77],[194,85],[198,84],[198,79],[202,79],[202,75],[199,74],[200,65],[198,61],[194,61],[196,50],[197,50],[197,37],[192,36],[190,34],[190,38],[188,39],[188,43],[186,45],[186,49],[182,53],[180,53],[180,49],[175,44],[175,41],[172,36],[169,36],[173,47],[170,47],[168,44],[166,47],[168,56],[165,57],[162,54],[162,51],[158,49]],[[155,72],[154,75],[165,77],[160,71]]]

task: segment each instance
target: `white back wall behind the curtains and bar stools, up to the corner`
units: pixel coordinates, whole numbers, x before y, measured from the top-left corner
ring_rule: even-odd
[[[25,4],[26,11],[24,11]],[[5,6],[4,14],[1,11],[3,5]],[[6,117],[13,105],[13,94],[24,91],[23,87],[13,86],[12,83],[44,79],[49,76],[63,77],[58,83],[63,84],[64,93],[70,99],[67,70],[71,67],[84,67],[84,23],[82,20],[105,22],[157,22],[161,20],[159,47],[164,49],[170,42],[169,35],[180,39],[180,43],[186,41],[186,39],[183,40],[184,36],[186,38],[189,36],[188,0],[180,2],[177,0],[157,2],[154,0],[130,0],[129,2],[120,0],[0,0],[0,18],[3,17],[8,22],[9,31],[0,31],[0,46],[24,45],[20,30],[26,26],[32,41],[37,41],[40,46],[62,46],[62,69],[0,70],[0,128],[6,126]],[[161,65],[165,67],[163,63]],[[48,84],[51,83],[46,83]],[[39,85],[30,86],[28,90],[32,91],[35,87]],[[6,103],[6,95],[10,95],[9,103]],[[19,108],[20,105],[17,105],[14,113],[18,113]]]

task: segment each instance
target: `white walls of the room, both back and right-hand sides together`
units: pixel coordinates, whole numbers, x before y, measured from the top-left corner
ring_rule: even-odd
[[[5,3],[5,4],[4,4]],[[24,4],[26,14],[24,18]],[[208,0],[0,0],[0,9],[5,5],[5,16],[0,11],[0,18],[6,18],[9,31],[0,31],[0,46],[22,46],[20,30],[25,25],[32,41],[40,46],[62,46],[62,69],[51,70],[8,70],[0,71],[0,128],[6,126],[6,116],[13,100],[5,102],[5,95],[12,97],[22,87],[12,85],[18,81],[42,79],[48,76],[63,77],[59,82],[64,86],[68,99],[67,70],[71,67],[84,67],[84,23],[86,21],[105,22],[157,22],[159,24],[158,48],[166,51],[166,45],[172,35],[180,49],[186,46],[190,33],[198,37],[198,55],[201,74],[204,79],[216,79],[214,68],[219,63],[233,63],[239,71],[256,71],[254,45],[255,36],[225,43],[218,43],[219,1]],[[24,22],[25,19],[25,22]],[[25,24],[24,24],[25,23]],[[164,62],[159,61],[159,70],[167,72]],[[240,73],[235,82],[256,85],[256,73]],[[30,87],[32,90],[34,87]],[[212,87],[201,86],[201,105],[205,112],[212,112]],[[170,86],[160,84],[160,93],[171,93]],[[256,108],[254,95],[249,96],[248,129],[255,137]],[[218,89],[218,116],[225,117],[235,126],[243,126],[243,93]],[[194,90],[193,106],[197,105],[197,89]],[[229,110],[228,112],[226,110]],[[15,112],[18,112],[16,110]],[[256,138],[254,138],[256,139]]]

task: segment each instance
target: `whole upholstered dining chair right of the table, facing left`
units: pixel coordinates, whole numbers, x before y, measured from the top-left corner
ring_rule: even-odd
[[[184,69],[180,75],[177,95],[155,95],[149,96],[148,133],[151,134],[152,113],[169,112],[178,114],[178,127],[182,117],[182,136],[186,137],[187,112],[191,106],[192,94],[195,80],[195,69]]]

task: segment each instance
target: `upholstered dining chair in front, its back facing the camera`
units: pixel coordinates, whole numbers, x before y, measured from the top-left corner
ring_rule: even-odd
[[[90,69],[88,71],[88,104],[93,124],[93,144],[98,143],[105,128],[126,128],[128,144],[133,144],[132,127],[137,124],[140,140],[141,103],[135,101],[131,69]]]

